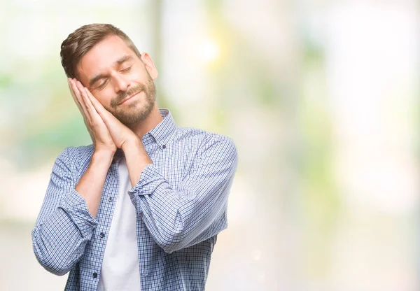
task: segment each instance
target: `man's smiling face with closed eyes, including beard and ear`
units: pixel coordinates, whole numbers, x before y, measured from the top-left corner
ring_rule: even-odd
[[[78,80],[125,125],[145,120],[155,105],[152,59],[141,59],[118,36],[94,45],[76,66]]]

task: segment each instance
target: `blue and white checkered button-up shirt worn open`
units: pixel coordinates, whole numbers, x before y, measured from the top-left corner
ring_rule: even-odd
[[[127,192],[137,217],[141,290],[204,290],[217,234],[227,227],[228,193],[237,149],[226,136],[162,122],[141,141],[153,164]],[[38,262],[52,274],[70,271],[65,290],[96,290],[118,195],[114,155],[96,218],[75,187],[93,147],[66,148],[55,160],[32,230]],[[119,290],[111,290],[119,291]]]

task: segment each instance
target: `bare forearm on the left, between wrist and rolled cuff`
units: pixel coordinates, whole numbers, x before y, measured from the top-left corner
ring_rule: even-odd
[[[75,187],[80,196],[85,199],[87,209],[92,217],[97,215],[106,174],[111,166],[113,155],[112,151],[94,152],[89,167]]]

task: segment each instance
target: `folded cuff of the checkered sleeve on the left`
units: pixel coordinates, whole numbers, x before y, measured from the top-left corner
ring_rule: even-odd
[[[75,189],[66,194],[58,207],[66,211],[74,224],[80,229],[83,237],[90,236],[92,230],[97,227],[97,220],[87,209],[85,199]]]

